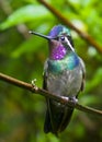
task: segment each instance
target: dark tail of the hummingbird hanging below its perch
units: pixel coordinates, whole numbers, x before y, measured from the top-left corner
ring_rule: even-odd
[[[49,102],[44,123],[44,132],[53,132],[57,135],[64,131],[70,121],[72,111],[72,107],[66,107],[64,105],[59,107],[55,105],[54,102]]]

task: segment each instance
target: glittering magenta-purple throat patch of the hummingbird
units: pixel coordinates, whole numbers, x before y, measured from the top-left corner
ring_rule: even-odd
[[[52,51],[52,59],[53,60],[60,60],[65,57],[67,50],[63,45],[59,45],[58,47],[54,48]]]

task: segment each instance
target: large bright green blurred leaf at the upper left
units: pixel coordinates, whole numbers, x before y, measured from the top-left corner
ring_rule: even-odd
[[[50,13],[42,5],[26,5],[14,11],[3,23],[0,29],[5,29],[20,23],[29,22],[36,19],[49,17]]]

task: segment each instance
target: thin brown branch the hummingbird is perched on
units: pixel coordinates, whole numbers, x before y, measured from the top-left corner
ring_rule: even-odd
[[[55,94],[52,94],[52,93],[49,93],[49,92],[47,92],[47,91],[45,91],[43,88],[39,88],[36,85],[33,86],[30,83],[16,80],[16,79],[11,78],[9,75],[5,75],[3,73],[0,73],[0,80],[4,81],[4,82],[8,82],[10,84],[13,84],[15,86],[19,86],[21,88],[31,91],[32,93],[37,93],[37,94],[41,94],[41,95],[43,95],[45,97],[49,97],[52,99],[60,102],[61,104],[65,104],[66,106],[71,106],[71,107],[75,107],[78,110],[81,110],[81,111],[84,111],[84,113],[89,113],[89,114],[93,114],[93,115],[102,117],[102,110],[98,110],[98,109],[94,109],[94,108],[82,106],[82,105],[80,105],[78,103],[75,104],[73,102],[71,102],[69,99],[66,99],[65,97],[56,96]]]

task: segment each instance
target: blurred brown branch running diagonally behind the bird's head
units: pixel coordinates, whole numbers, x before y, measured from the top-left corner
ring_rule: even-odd
[[[59,21],[61,21],[65,25],[69,26],[73,31],[76,31],[89,45],[95,47],[95,49],[102,54],[102,47],[88,34],[83,33],[79,28],[77,28],[69,20],[68,17],[64,16],[61,12],[59,12],[57,9],[52,7],[49,3],[47,3],[45,0],[37,0],[43,5],[45,5],[54,15],[58,17]]]

